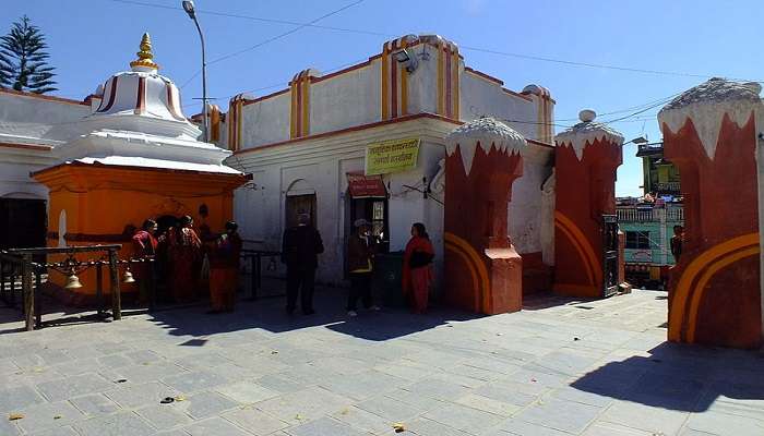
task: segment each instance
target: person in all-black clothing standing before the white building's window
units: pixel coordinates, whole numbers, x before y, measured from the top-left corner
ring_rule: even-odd
[[[297,226],[287,229],[282,240],[282,262],[287,266],[287,314],[295,313],[297,294],[306,315],[312,315],[315,268],[324,252],[321,234],[310,223],[310,215],[297,216]]]

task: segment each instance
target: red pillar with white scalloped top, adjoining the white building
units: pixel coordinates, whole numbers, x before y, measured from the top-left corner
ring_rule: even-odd
[[[444,296],[453,306],[489,315],[523,306],[523,264],[508,237],[506,210],[526,146],[491,118],[446,137]]]

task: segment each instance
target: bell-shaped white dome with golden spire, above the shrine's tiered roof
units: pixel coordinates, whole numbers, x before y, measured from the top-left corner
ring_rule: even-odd
[[[116,73],[98,86],[100,104],[85,121],[162,136],[199,137],[200,129],[183,114],[178,87],[158,73],[153,58],[151,38],[143,34],[131,71]]]

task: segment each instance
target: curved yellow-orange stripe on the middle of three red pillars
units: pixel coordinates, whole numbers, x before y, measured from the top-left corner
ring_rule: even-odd
[[[602,282],[602,268],[592,242],[584,232],[564,214],[554,211],[554,228],[562,233],[578,254],[578,258],[586,272],[587,283],[554,283],[554,290],[559,292],[596,292]]]

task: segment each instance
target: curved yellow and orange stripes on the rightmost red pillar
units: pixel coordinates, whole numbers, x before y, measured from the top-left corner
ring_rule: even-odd
[[[759,233],[732,238],[703,252],[682,271],[671,300],[668,337],[671,341],[695,342],[697,315],[705,288],[721,269],[761,252]]]

